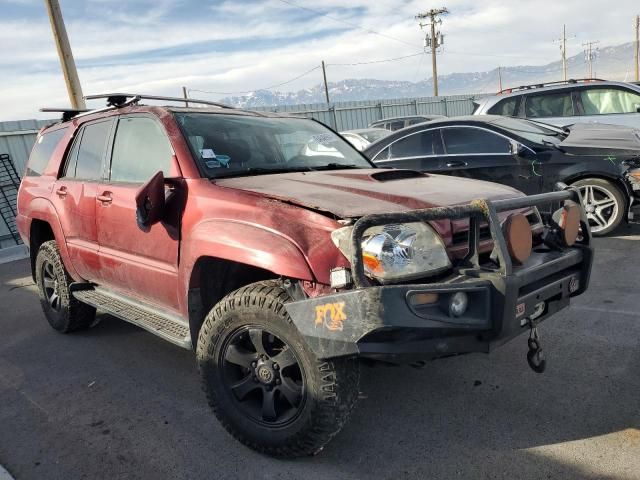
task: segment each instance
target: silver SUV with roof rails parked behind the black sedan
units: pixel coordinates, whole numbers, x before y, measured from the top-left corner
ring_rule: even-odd
[[[568,80],[503,90],[474,101],[474,115],[505,115],[552,125],[610,123],[640,128],[640,85]]]

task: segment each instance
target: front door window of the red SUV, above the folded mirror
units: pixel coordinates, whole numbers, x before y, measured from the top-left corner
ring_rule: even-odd
[[[173,149],[162,126],[146,117],[121,118],[111,155],[111,181],[144,183],[171,172]]]

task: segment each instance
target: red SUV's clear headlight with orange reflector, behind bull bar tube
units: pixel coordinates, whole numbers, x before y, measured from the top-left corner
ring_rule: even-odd
[[[331,234],[336,246],[351,259],[352,227]],[[451,267],[440,236],[425,223],[372,227],[362,238],[365,273],[381,283],[433,275]]]

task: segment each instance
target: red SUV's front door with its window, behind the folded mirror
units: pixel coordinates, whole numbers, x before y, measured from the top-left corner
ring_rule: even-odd
[[[98,186],[97,236],[104,285],[178,311],[180,214],[150,228],[136,220],[136,193],[157,172],[177,177],[171,142],[150,115],[122,116],[115,126],[106,181]]]

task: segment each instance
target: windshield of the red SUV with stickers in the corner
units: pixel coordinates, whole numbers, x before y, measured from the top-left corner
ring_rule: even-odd
[[[175,113],[209,178],[341,168],[373,168],[357,150],[304,118]]]

